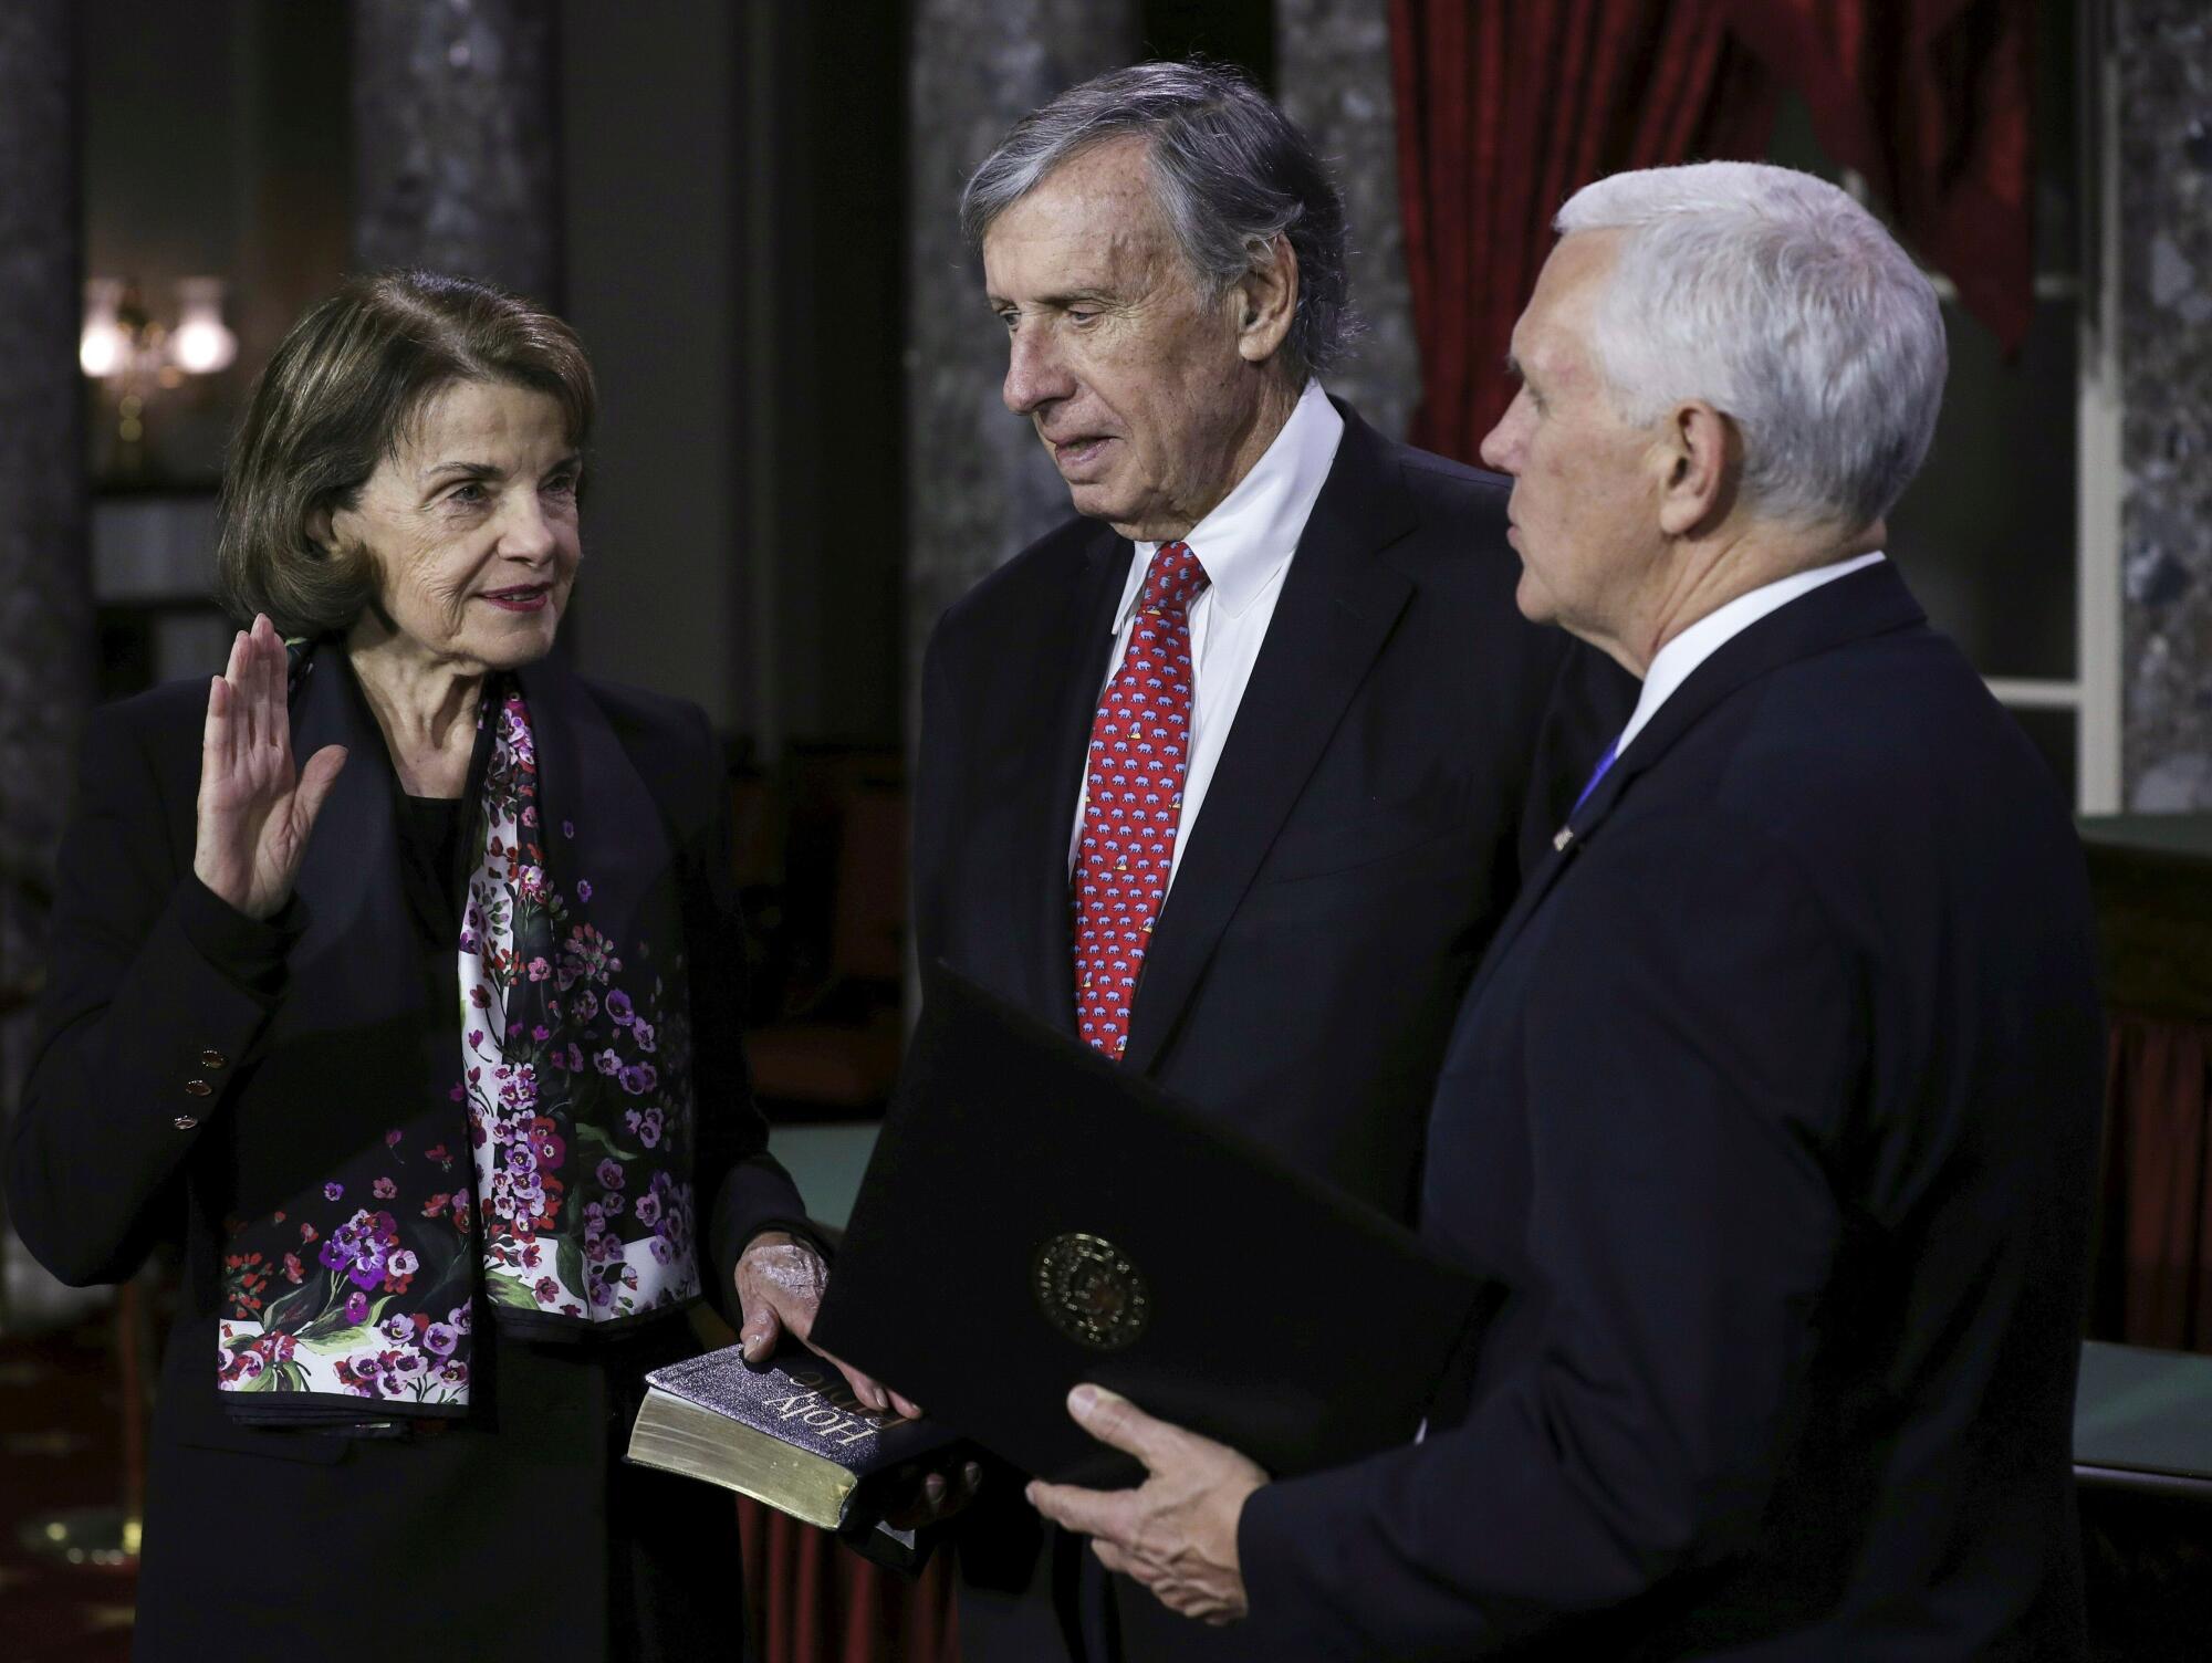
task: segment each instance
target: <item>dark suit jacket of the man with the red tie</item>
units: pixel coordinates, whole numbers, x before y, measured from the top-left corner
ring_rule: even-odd
[[[1504,498],[1345,411],[1130,1013],[1124,1066],[1398,1219],[1524,851],[1632,703],[1610,663],[1515,610]],[[1130,553],[1068,522],[960,599],[925,666],[920,955],[1071,1035],[1068,834]],[[1128,1650],[1177,1639],[1210,1634]]]

